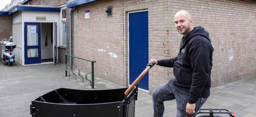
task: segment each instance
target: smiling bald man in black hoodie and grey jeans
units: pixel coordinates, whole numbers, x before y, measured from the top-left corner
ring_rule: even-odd
[[[201,26],[193,28],[187,11],[175,14],[177,31],[183,35],[177,57],[151,61],[156,65],[173,67],[175,79],[152,92],[154,117],[162,117],[163,102],[176,99],[177,117],[196,117],[196,112],[210,96],[213,46],[209,33]]]

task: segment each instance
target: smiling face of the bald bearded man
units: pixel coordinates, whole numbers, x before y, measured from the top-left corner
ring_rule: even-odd
[[[174,17],[175,27],[180,34],[186,36],[190,30],[190,19],[184,14],[179,14]]]

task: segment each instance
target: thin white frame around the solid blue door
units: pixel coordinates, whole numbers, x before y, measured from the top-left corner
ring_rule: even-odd
[[[137,10],[137,11],[130,11],[130,12],[127,12],[127,15],[128,15],[128,18],[127,18],[127,20],[128,20],[128,86],[130,86],[130,44],[129,44],[129,14],[130,13],[137,13],[137,12],[144,12],[144,11],[148,11],[148,9],[144,9],[144,10]],[[142,90],[142,91],[144,91],[144,92],[149,92],[149,90],[145,90],[145,89],[141,89],[141,88],[138,88],[138,89],[140,89],[140,90]]]

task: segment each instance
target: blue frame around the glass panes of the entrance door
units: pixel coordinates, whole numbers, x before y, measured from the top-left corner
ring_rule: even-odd
[[[40,25],[39,25],[40,24]],[[26,60],[37,60],[35,59],[36,57],[33,58],[28,58],[28,49],[33,48],[33,47],[28,47],[26,44],[28,43],[28,35],[27,35],[27,29],[28,29],[28,25],[38,25],[38,57],[37,59],[40,59],[40,63],[36,63],[36,62],[32,62],[32,63],[28,63]],[[24,65],[29,65],[29,64],[41,64],[42,63],[42,59],[41,59],[41,22],[24,22]]]

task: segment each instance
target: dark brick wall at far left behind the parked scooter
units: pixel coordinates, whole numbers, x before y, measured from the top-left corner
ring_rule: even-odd
[[[9,39],[10,36],[12,36],[12,16],[0,16],[0,41],[4,38]],[[1,46],[0,44],[0,49]]]

